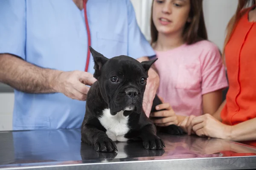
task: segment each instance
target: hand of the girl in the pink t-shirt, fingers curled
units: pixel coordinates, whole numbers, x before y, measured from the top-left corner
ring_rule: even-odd
[[[163,100],[162,100],[163,101]],[[152,119],[157,126],[177,125],[177,115],[169,103],[163,103],[156,106],[156,110],[166,109],[166,111],[157,111],[150,114],[151,117],[163,117],[161,119]]]

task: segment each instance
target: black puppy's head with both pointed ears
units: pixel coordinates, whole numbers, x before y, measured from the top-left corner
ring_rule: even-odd
[[[157,60],[139,62],[128,56],[111,59],[90,47],[94,59],[94,74],[100,92],[112,115],[119,111],[141,113],[148,70]]]

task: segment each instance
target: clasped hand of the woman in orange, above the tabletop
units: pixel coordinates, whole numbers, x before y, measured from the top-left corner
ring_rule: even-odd
[[[210,114],[195,117],[191,124],[198,136],[227,139],[231,132],[231,126],[224,125]]]

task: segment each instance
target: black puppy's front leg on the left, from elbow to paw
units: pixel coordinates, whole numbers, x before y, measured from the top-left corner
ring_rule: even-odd
[[[93,125],[85,124],[81,128],[81,141],[93,145],[98,152],[117,151],[116,144],[102,130]]]

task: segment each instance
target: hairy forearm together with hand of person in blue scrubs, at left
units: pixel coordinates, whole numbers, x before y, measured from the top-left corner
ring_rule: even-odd
[[[26,93],[63,93],[86,100],[93,75],[84,71],[40,68],[11,54],[0,54],[0,82]]]

